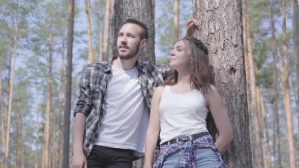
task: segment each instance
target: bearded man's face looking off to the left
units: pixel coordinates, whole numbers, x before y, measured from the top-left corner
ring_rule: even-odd
[[[131,59],[136,56],[140,48],[141,28],[136,24],[124,24],[120,28],[117,45],[120,59]]]

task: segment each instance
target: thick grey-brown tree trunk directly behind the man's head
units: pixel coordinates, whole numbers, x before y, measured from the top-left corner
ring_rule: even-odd
[[[147,61],[154,63],[154,20],[152,17],[152,0],[115,0],[114,3],[114,44],[116,44],[119,30],[122,23],[127,17],[135,17],[144,22],[149,28],[149,39],[147,47],[145,47],[139,56],[139,61]],[[114,45],[113,55],[117,55],[117,46]]]

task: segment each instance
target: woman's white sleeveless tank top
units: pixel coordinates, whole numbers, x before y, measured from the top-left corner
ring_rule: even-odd
[[[160,144],[179,137],[208,132],[209,110],[201,91],[175,94],[166,86],[160,100]]]

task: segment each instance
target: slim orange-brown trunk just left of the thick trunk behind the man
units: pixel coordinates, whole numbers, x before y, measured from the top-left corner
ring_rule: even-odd
[[[111,0],[106,0],[106,8],[105,8],[105,25],[104,25],[104,41],[103,41],[103,56],[105,58],[104,61],[109,59],[108,56],[108,47],[109,47],[109,26],[110,26],[110,2]]]

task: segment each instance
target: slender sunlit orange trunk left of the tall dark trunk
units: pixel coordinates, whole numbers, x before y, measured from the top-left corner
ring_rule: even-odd
[[[49,168],[49,143],[50,143],[50,111],[51,111],[51,85],[52,85],[52,56],[53,56],[53,34],[52,25],[50,25],[49,31],[49,60],[48,60],[48,80],[47,80],[47,100],[46,100],[46,118],[45,118],[45,130],[44,130],[44,147],[43,147],[43,167]]]

